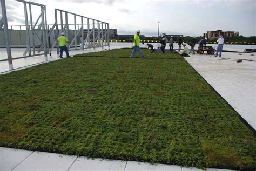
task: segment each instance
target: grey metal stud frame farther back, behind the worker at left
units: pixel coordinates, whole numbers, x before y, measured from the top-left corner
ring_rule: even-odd
[[[71,15],[71,17],[74,18],[73,24],[69,24],[68,15]],[[63,16],[65,17],[65,23],[64,23]],[[77,17],[80,19],[79,24],[77,23]],[[91,21],[92,23],[90,23]],[[97,36],[95,35],[96,22],[97,22]],[[102,46],[102,50],[104,49],[104,46],[108,46],[110,48],[109,23],[102,22],[100,20],[92,19],[89,17],[84,17],[76,13],[72,13],[72,12],[68,12],[60,9],[55,9],[55,23],[53,24],[51,30],[49,31],[48,37],[50,37],[53,31],[55,31],[55,35],[57,35],[57,37],[59,37],[62,32],[65,32],[65,36],[70,40],[70,29],[69,29],[70,25],[74,25],[74,38],[70,41],[71,43],[68,45],[69,51],[79,50],[79,49],[84,50],[91,47],[95,49],[96,47],[100,46],[100,43]],[[91,25],[92,25],[92,28],[91,28]],[[84,38],[85,30],[87,30],[86,38]],[[104,30],[105,30],[105,33],[104,33]],[[91,39],[91,36],[92,36],[92,39]],[[77,43],[78,37],[81,40],[81,45],[78,45]],[[104,45],[104,42],[105,42],[105,45]],[[59,45],[57,40],[53,42],[52,48],[55,46],[57,47],[57,54],[59,54]],[[72,48],[72,46],[75,46],[75,47]]]

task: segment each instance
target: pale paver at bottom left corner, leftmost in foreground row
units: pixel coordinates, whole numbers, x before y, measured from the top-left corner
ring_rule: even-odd
[[[0,170],[12,170],[31,153],[33,152],[22,149],[0,147]]]

